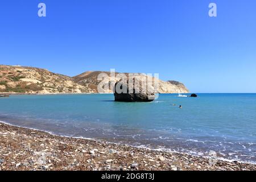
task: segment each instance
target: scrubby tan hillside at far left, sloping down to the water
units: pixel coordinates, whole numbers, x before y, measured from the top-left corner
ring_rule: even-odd
[[[0,65],[1,93],[89,93],[73,78],[46,69]]]

